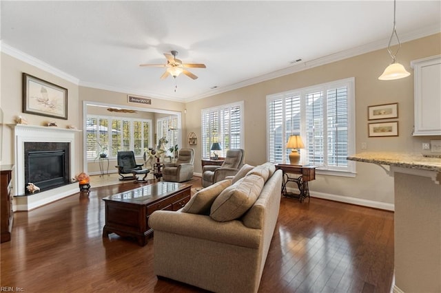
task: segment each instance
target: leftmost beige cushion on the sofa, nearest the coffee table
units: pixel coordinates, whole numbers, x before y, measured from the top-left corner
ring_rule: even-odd
[[[182,208],[181,212],[209,215],[214,199],[230,185],[232,185],[232,180],[223,180],[203,188],[192,196],[189,202]]]

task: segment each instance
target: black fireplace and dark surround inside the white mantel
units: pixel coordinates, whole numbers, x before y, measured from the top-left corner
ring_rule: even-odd
[[[47,191],[70,184],[69,142],[25,142],[25,187]],[[27,188],[25,193],[30,194]]]

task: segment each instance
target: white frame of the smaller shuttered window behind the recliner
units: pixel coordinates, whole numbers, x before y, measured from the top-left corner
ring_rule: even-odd
[[[239,122],[236,122],[236,126],[237,124],[239,124],[239,130],[237,131],[237,128],[232,128],[232,117],[229,116],[229,124],[228,126],[225,126],[225,116],[222,115],[223,111],[225,110],[229,110],[229,114],[231,114],[231,110],[233,108],[238,107],[240,113],[238,115],[238,119]],[[206,113],[217,113],[217,121],[216,124],[218,126],[218,136],[217,136],[217,140],[214,139],[213,135],[205,135],[205,114]],[[244,107],[244,102],[239,101],[239,102],[232,102],[229,104],[225,104],[225,105],[220,105],[220,106],[216,106],[216,107],[210,107],[210,108],[205,108],[205,109],[201,109],[201,158],[203,160],[207,160],[211,157],[211,151],[209,151],[209,149],[212,146],[213,142],[221,142],[221,146],[222,146],[222,151],[216,151],[216,153],[218,153],[219,157],[225,157],[225,154],[227,153],[228,149],[231,149],[229,147],[225,148],[225,144],[223,142],[225,142],[225,139],[228,137],[229,138],[229,142],[230,145],[232,144],[232,136],[234,136],[235,138],[237,138],[237,136],[239,136],[238,141],[239,144],[237,146],[237,139],[236,141],[236,147],[234,147],[233,149],[236,148],[240,148],[240,149],[244,149],[244,142],[245,142],[245,126],[244,126],[244,112],[245,112],[245,107]],[[237,119],[237,117],[236,117]],[[229,131],[225,131],[225,129],[229,129]],[[233,134],[232,134],[233,133]],[[208,154],[208,155],[207,155]]]

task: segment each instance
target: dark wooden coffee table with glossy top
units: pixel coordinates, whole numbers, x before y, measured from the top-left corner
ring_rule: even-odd
[[[104,197],[103,237],[114,232],[122,237],[135,237],[139,245],[145,246],[153,232],[148,226],[150,215],[155,210],[179,210],[189,201],[191,188],[191,184],[156,182]]]

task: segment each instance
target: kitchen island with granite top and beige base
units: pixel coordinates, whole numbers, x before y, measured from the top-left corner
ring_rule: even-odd
[[[393,292],[441,292],[441,158],[376,152],[347,160],[377,164],[393,177]]]

